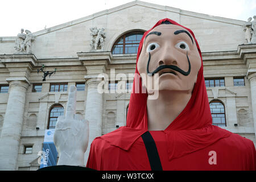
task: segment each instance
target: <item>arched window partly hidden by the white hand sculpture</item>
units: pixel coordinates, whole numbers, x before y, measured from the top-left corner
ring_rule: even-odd
[[[64,114],[64,107],[60,104],[53,105],[49,110],[49,119],[47,129],[55,129],[57,118]]]

